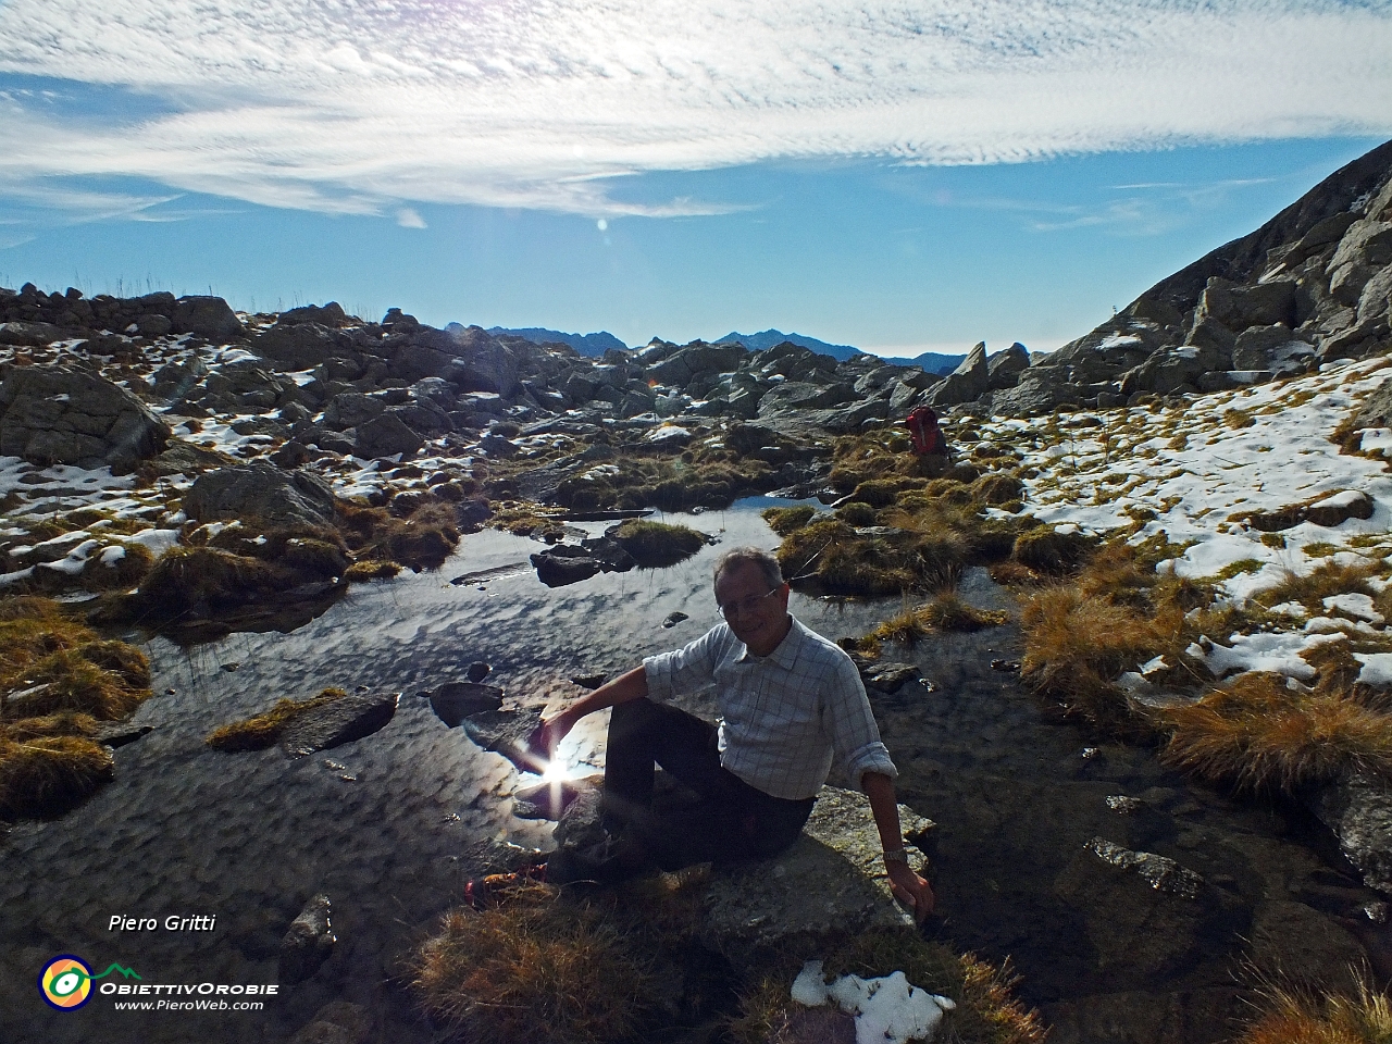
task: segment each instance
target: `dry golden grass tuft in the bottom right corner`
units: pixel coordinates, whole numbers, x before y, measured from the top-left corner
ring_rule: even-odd
[[[1257,1018],[1236,1044],[1386,1044],[1392,1040],[1392,1001],[1359,976],[1354,995],[1265,987]]]

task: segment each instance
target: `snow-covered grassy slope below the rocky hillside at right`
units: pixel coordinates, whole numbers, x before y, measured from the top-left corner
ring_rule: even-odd
[[[1392,376],[1389,362],[1325,365],[1283,383],[1178,404],[992,419],[979,430],[988,443],[1020,452],[1025,473],[1033,473],[1025,511],[1055,528],[1098,535],[1134,529],[1129,539],[1136,544],[1164,535],[1183,550],[1158,568],[1215,582],[1233,604],[1325,562],[1367,567],[1370,587],[1381,590],[1392,574],[1392,475],[1382,459],[1392,451],[1392,432],[1367,430],[1356,455],[1340,454],[1331,434]],[[1279,532],[1247,521],[1297,505],[1347,505],[1357,494],[1373,503],[1367,519],[1336,526],[1306,521]],[[1218,675],[1261,670],[1308,681],[1314,668],[1300,653],[1345,636],[1386,640],[1388,653],[1357,654],[1360,681],[1392,681],[1392,633],[1371,599],[1343,593],[1325,599],[1322,610],[1310,615],[1296,603],[1276,606],[1274,615],[1289,626],[1210,635],[1211,644],[1189,651]]]

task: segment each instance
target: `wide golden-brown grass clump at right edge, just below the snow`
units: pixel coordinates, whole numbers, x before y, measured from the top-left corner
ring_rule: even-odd
[[[1164,757],[1210,782],[1292,791],[1345,767],[1392,773],[1392,715],[1352,690],[1300,690],[1250,672],[1197,703],[1157,711],[1171,729]]]

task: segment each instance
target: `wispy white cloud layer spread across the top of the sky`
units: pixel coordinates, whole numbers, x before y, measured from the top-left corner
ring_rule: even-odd
[[[1389,53],[1392,6],[1327,0],[8,0],[0,74],[159,104],[103,121],[10,90],[0,185],[720,213],[614,178],[1388,134]]]

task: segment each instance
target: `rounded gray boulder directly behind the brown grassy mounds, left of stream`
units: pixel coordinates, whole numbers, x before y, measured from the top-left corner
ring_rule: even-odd
[[[196,522],[322,526],[334,516],[334,494],[315,475],[256,461],[198,476],[184,494],[184,512]]]

